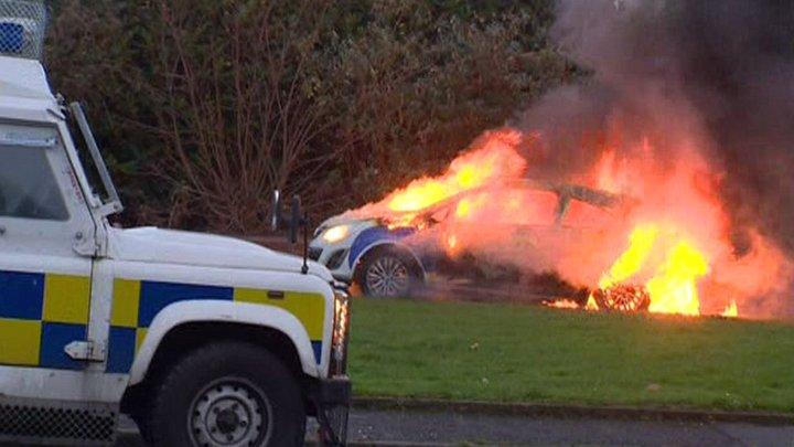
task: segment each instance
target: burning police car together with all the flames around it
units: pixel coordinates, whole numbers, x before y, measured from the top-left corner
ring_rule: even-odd
[[[780,294],[787,283],[772,278],[794,267],[758,230],[736,243],[719,171],[696,146],[685,140],[670,159],[658,149],[668,140],[626,138],[620,124],[587,163],[561,170],[538,162],[555,151],[543,132],[489,130],[443,170],[325,221],[311,256],[369,296],[406,296],[452,266],[489,288],[551,274],[566,286],[544,289],[556,307],[759,315],[749,304]]]

